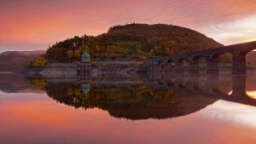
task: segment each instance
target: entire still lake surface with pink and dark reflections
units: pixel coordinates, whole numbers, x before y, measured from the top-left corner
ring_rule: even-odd
[[[255,143],[256,74],[0,75],[0,143]]]

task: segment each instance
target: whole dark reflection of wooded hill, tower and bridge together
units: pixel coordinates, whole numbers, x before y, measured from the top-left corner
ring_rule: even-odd
[[[246,77],[237,75],[149,75],[133,79],[28,79],[50,98],[72,107],[101,108],[115,118],[172,118],[201,110],[219,99],[256,106],[246,93]],[[232,91],[230,93],[230,91]]]

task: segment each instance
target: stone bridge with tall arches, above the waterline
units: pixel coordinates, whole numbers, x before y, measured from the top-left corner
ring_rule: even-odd
[[[198,63],[201,58],[207,62],[207,73],[218,72],[218,58],[223,54],[232,55],[232,72],[246,73],[246,58],[248,52],[256,49],[256,41],[250,43],[240,43],[236,45],[225,46],[216,49],[207,49],[191,52],[185,55],[172,55],[149,60],[143,65],[147,71],[162,71],[163,68],[169,67],[177,73],[183,73],[183,61],[189,62],[189,72],[198,72]]]

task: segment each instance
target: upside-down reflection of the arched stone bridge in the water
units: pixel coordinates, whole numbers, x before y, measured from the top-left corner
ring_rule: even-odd
[[[152,77],[153,76],[153,77]],[[151,75],[144,80],[155,89],[173,89],[189,95],[204,95],[225,101],[233,101],[242,104],[256,106],[253,100],[246,94],[246,76],[234,75],[230,84],[229,92],[224,92],[218,87],[227,87],[218,81],[218,75],[206,75],[205,81],[199,80],[199,76],[191,76],[185,79],[183,76],[161,78],[162,76]]]

